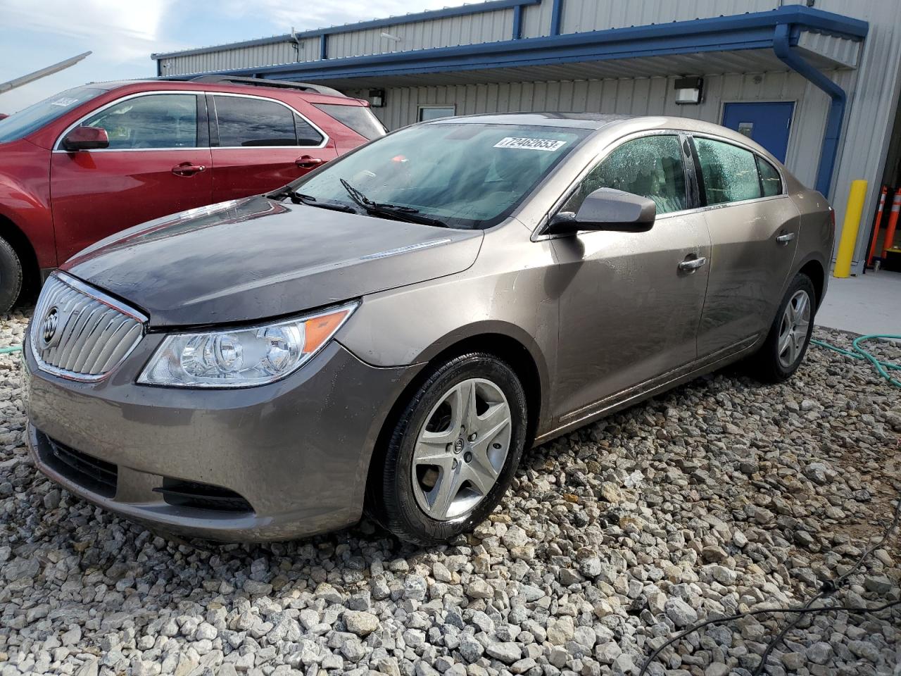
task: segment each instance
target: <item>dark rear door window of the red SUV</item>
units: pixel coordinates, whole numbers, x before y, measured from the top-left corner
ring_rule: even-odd
[[[221,147],[297,145],[294,114],[286,106],[241,96],[213,98]]]

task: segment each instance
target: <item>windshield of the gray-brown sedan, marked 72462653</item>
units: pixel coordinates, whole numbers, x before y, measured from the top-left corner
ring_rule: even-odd
[[[500,223],[590,132],[558,127],[436,123],[408,127],[335,160],[290,188],[356,208],[342,180],[372,202],[454,228]]]

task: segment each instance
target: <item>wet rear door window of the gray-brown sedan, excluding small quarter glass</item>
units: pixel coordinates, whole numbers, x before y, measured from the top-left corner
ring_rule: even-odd
[[[754,153],[731,143],[695,138],[708,205],[761,196]]]

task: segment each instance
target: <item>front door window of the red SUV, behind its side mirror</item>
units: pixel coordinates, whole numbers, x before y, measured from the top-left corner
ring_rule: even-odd
[[[197,147],[197,97],[193,94],[135,96],[88,117],[82,124],[102,127],[110,148]]]

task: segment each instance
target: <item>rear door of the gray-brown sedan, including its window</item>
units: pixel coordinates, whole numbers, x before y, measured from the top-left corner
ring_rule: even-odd
[[[795,258],[798,212],[769,160],[724,139],[695,134],[693,143],[712,244],[703,357],[769,330]]]

